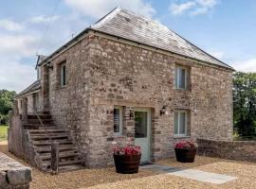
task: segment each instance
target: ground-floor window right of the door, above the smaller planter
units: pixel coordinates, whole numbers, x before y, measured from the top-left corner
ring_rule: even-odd
[[[174,112],[174,135],[175,136],[187,136],[187,111],[175,111]]]

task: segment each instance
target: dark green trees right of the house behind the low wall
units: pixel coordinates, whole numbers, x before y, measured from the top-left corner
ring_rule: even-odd
[[[256,73],[233,75],[234,129],[242,136],[256,135]]]

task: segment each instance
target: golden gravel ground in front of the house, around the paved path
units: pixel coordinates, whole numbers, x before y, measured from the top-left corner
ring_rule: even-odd
[[[0,151],[24,163],[8,152],[6,145],[0,145]],[[256,163],[226,161],[216,158],[196,157],[195,163],[176,163],[174,159],[158,162],[159,164],[192,168],[212,173],[237,177],[238,180],[216,185],[206,182],[188,180],[168,174],[156,174],[149,170],[140,170],[138,174],[121,175],[114,168],[83,169],[51,176],[32,168],[31,189],[108,189],[108,188],[172,188],[172,189],[255,189]],[[27,163],[24,163],[28,165]]]

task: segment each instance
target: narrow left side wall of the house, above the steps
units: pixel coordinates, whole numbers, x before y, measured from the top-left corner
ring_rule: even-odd
[[[75,44],[52,60],[49,74],[49,108],[59,127],[71,130],[84,159],[88,152],[89,69],[88,40]],[[66,85],[61,86],[60,64],[65,61]]]

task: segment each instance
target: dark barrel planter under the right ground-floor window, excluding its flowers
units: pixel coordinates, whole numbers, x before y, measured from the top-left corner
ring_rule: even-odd
[[[194,149],[180,149],[174,148],[176,154],[176,160],[180,163],[193,163],[194,156],[196,154],[196,148]]]

